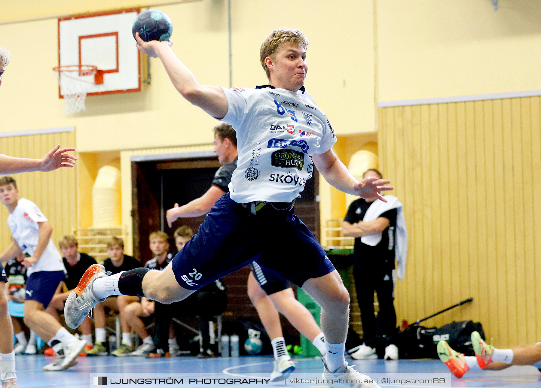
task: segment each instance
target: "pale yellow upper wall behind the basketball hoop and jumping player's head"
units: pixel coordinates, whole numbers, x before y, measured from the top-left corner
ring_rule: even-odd
[[[61,3],[71,9],[67,2]],[[125,5],[115,0],[108,2],[107,9],[116,4]],[[173,50],[202,84],[229,84],[226,5],[225,1],[202,0],[156,7],[171,17]],[[263,9],[250,0],[233,1],[234,84],[265,84],[259,63],[263,38],[281,26],[299,28],[313,41],[308,51],[307,89],[337,133],[373,131],[373,46],[365,44],[373,41],[372,2],[350,0],[344,5],[349,9],[346,15],[340,7],[323,1],[302,12],[284,12],[291,3],[283,0],[265,3]],[[337,19],[347,26],[348,39],[337,39],[322,28]],[[157,59],[151,59],[152,84],[143,85],[141,92],[91,96],[86,112],[67,116],[51,70],[58,61],[57,19],[0,24],[0,36],[13,54],[0,93],[0,131],[76,126],[80,152],[212,142],[210,129],[216,121],[184,101]],[[344,52],[351,63],[347,68],[335,61]],[[332,72],[337,76],[327,77]]]

